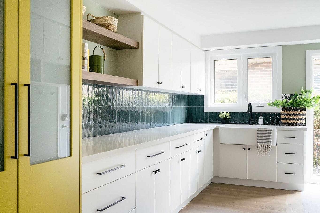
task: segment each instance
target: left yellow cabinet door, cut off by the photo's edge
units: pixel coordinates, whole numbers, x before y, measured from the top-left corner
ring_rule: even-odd
[[[0,1],[0,212],[17,212],[15,86],[18,83],[18,0]]]

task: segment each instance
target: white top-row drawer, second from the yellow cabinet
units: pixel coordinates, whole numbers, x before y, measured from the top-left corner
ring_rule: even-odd
[[[165,142],[155,146],[137,149],[136,151],[136,171],[147,168],[158,162],[169,159],[170,142]]]

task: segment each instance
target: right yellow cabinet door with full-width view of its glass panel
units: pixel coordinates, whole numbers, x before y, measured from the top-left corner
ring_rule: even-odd
[[[19,0],[19,212],[79,212],[81,3]]]

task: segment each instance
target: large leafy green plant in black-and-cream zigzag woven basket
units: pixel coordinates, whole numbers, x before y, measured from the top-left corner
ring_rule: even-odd
[[[268,106],[281,106],[280,118],[284,126],[302,126],[306,122],[306,108],[319,109],[320,95],[311,97],[312,91],[302,88],[301,94],[295,93],[289,99],[269,102]]]

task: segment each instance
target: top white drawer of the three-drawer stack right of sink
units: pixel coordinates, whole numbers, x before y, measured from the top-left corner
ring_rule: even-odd
[[[304,131],[278,130],[277,143],[304,144]]]

